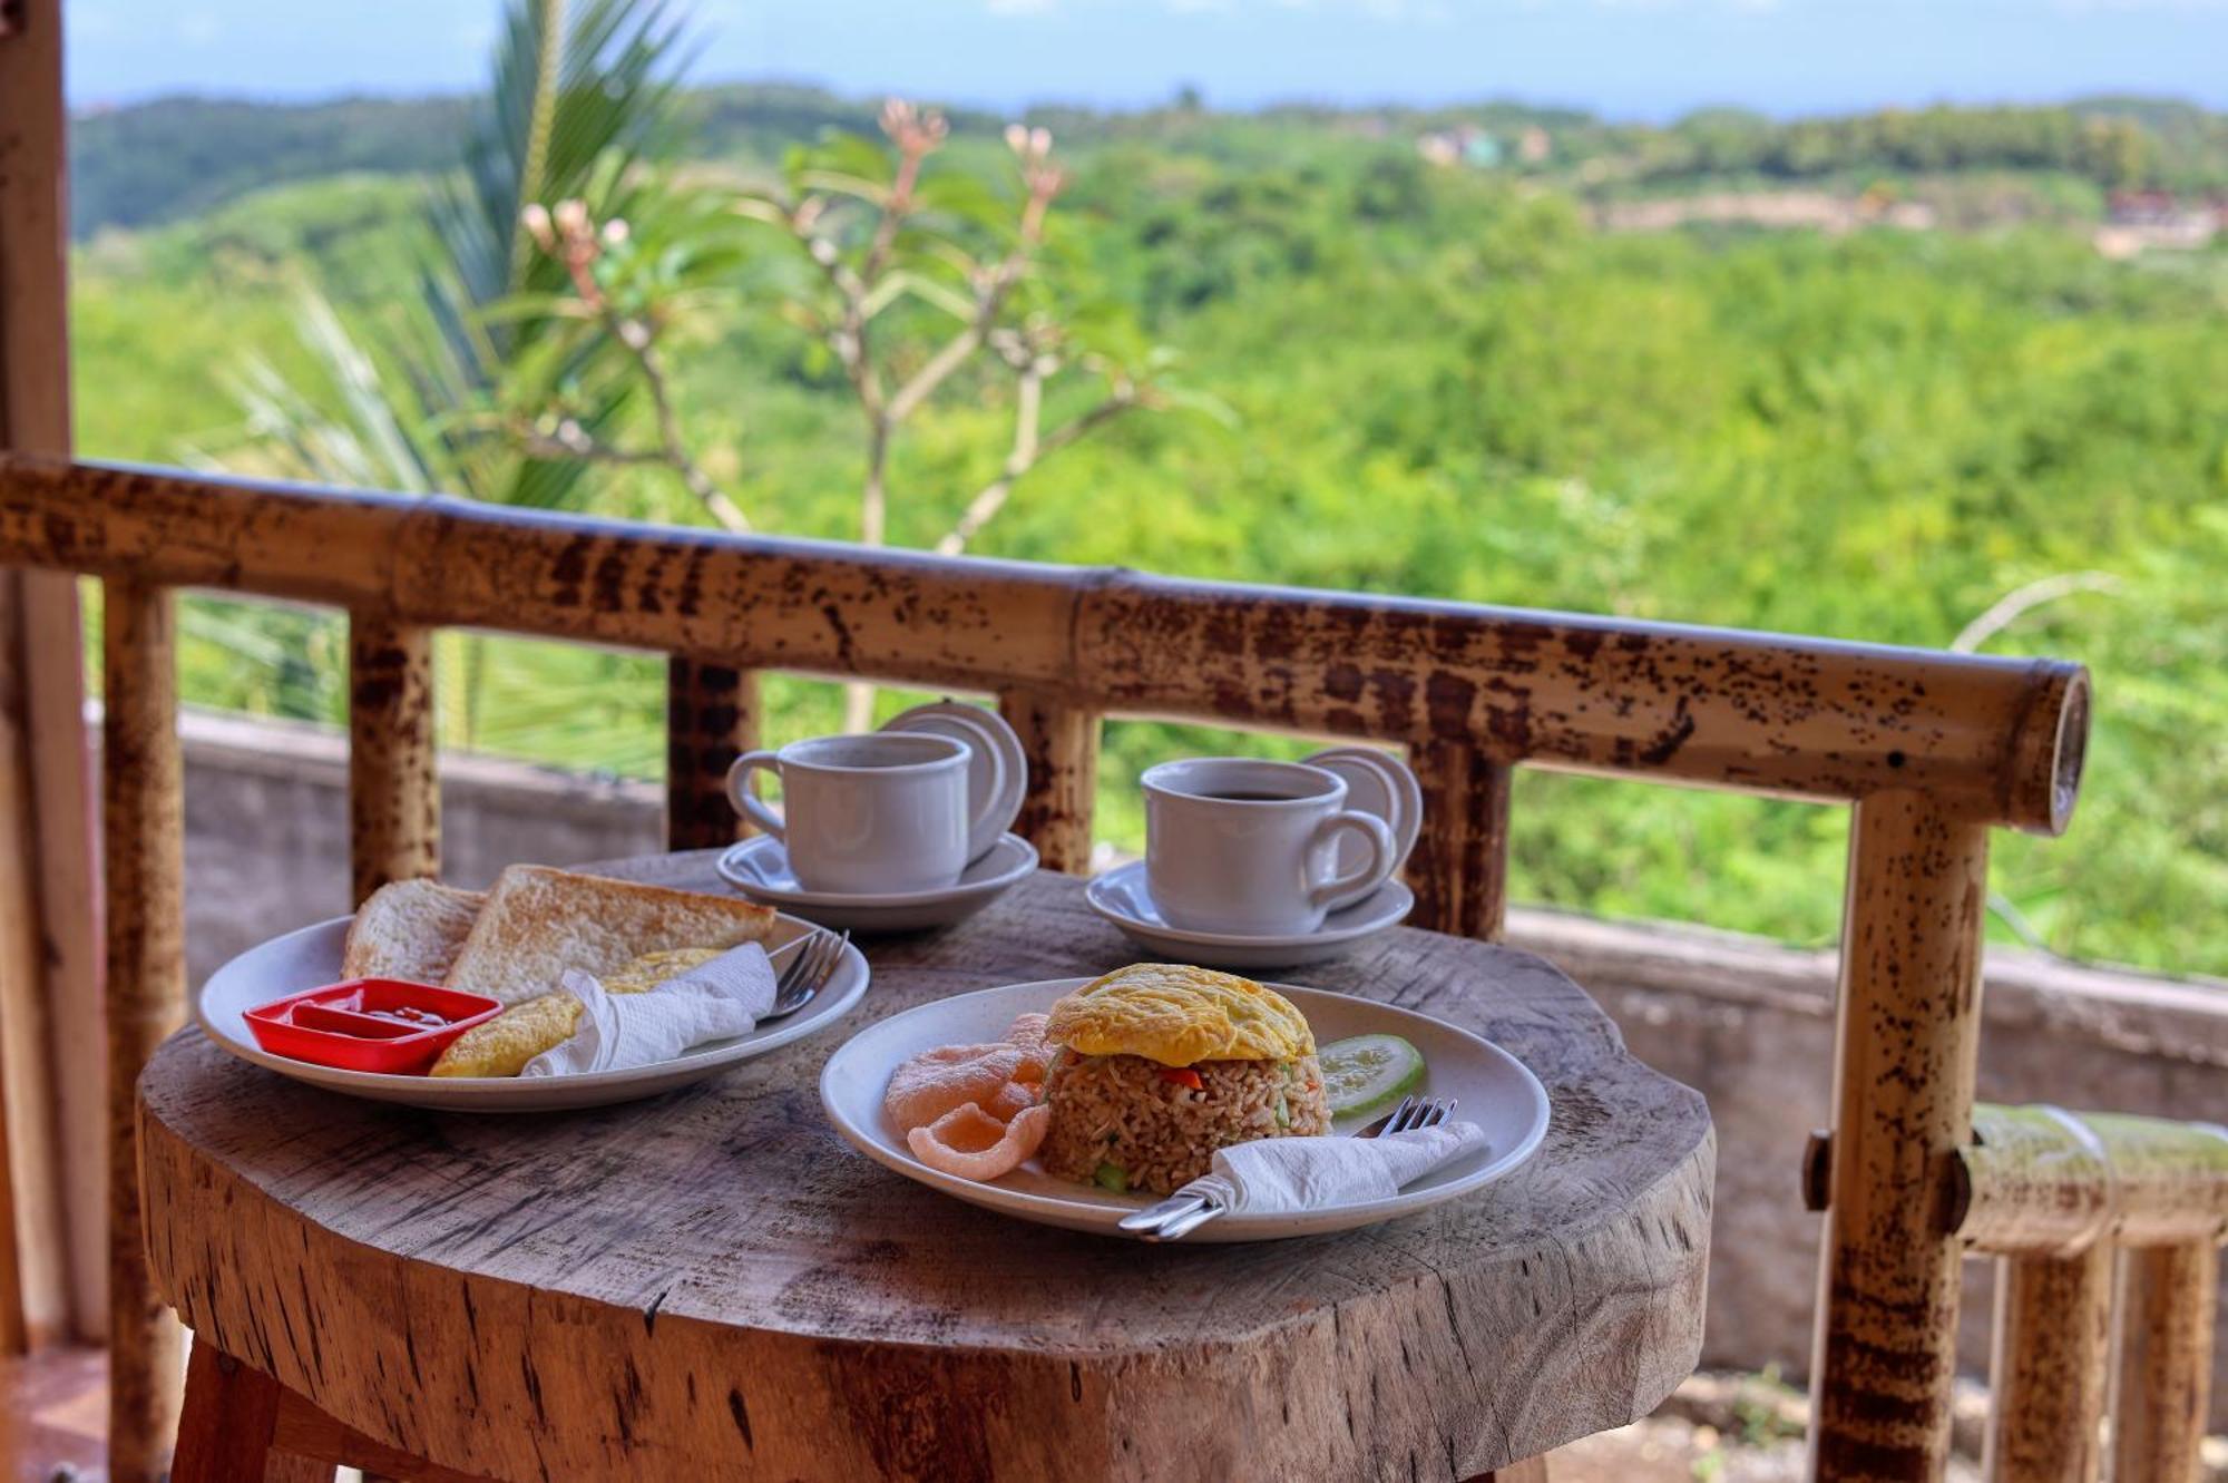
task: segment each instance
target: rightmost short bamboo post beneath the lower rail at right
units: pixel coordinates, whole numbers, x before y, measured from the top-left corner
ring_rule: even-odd
[[[2212,1240],[2126,1251],[2112,1372],[2112,1483],[2197,1483],[2217,1312]]]

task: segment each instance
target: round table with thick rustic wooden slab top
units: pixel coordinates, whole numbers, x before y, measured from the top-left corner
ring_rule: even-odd
[[[711,860],[590,868],[717,891]],[[250,1472],[274,1445],[521,1483],[1468,1479],[1693,1369],[1709,1111],[1528,953],[1401,929],[1286,975],[1470,1027],[1555,1102],[1519,1173],[1364,1231],[1023,1225],[822,1116],[822,1062],[871,1020],[1136,955],[1038,875],[869,944],[873,986],[827,1033],[579,1113],[359,1102],[174,1035],[140,1078],[154,1276],[196,1334],[174,1476],[310,1476]]]

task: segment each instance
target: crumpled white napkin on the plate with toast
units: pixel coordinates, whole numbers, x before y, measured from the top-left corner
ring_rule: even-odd
[[[519,1076],[646,1067],[706,1040],[749,1035],[758,1015],[773,1009],[773,964],[766,949],[744,942],[648,993],[608,993],[579,969],[566,973],[559,989],[579,1000],[579,1029],[526,1062]]]

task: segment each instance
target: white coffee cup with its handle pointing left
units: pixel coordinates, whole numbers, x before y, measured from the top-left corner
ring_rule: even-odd
[[[936,891],[967,868],[967,759],[954,737],[813,737],[735,757],[726,799],[782,842],[807,891]],[[782,779],[780,813],[751,790],[760,770]]]

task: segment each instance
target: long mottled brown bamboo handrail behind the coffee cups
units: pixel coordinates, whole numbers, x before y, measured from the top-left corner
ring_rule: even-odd
[[[2059,833],[2088,675],[1401,597],[735,537],[0,456],[0,561],[813,675],[1027,688]]]

